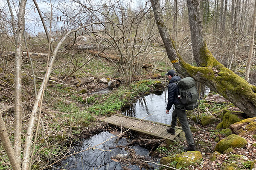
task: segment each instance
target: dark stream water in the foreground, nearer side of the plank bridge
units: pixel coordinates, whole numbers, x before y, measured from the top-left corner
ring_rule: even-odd
[[[125,146],[127,144],[127,139],[122,138],[119,140],[119,142],[115,143],[117,137],[113,136],[115,135],[110,132],[102,132],[92,136],[90,139],[84,140],[82,142],[82,147],[75,146],[70,153],[73,153],[73,151],[77,152],[80,150],[86,150],[88,147],[93,147],[98,144],[100,145],[94,149],[89,149],[82,153],[68,157],[66,160],[61,162],[62,165],[58,166],[58,168],[64,170],[122,170],[122,165],[120,162],[111,160],[111,157],[118,154],[123,156],[127,154],[123,148],[116,147]],[[139,146],[133,146],[131,149],[134,149],[137,155],[149,158],[149,151],[147,149]],[[132,170],[140,170],[140,167],[136,165],[128,165],[126,167]],[[152,167],[152,170],[155,168],[156,166]]]

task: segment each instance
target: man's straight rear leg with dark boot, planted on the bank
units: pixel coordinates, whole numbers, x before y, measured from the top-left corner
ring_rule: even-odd
[[[185,132],[186,141],[189,144],[189,147],[185,147],[185,150],[195,150],[195,143],[193,139],[193,135],[191,133],[189,122],[186,116],[186,111],[184,109],[177,108],[177,116],[180,120],[180,124],[182,127],[182,130]]]

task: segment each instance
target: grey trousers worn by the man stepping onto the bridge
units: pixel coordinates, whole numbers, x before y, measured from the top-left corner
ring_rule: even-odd
[[[189,144],[194,144],[193,135],[191,133],[188,118],[186,116],[186,110],[180,109],[175,107],[174,111],[172,112],[172,123],[171,127],[175,129],[175,126],[177,124],[177,117],[180,120],[180,124],[182,127],[182,130],[185,132],[186,140]]]

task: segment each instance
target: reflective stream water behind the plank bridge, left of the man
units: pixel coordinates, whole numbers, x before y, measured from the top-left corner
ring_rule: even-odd
[[[142,96],[134,105],[123,111],[122,114],[169,125],[172,122],[174,108],[172,107],[169,114],[166,114],[167,97],[168,89],[158,94]]]

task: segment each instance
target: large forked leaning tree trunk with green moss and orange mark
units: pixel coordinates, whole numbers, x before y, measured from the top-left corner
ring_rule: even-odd
[[[183,76],[193,77],[209,88],[221,94],[247,116],[256,116],[256,87],[219,63],[210,53],[203,40],[203,33],[199,15],[198,1],[187,0],[189,9],[189,23],[192,37],[193,55],[200,67],[194,67],[184,62],[173,46],[167,28],[163,22],[158,0],[151,0],[156,24],[163,39],[166,53],[175,69]]]

